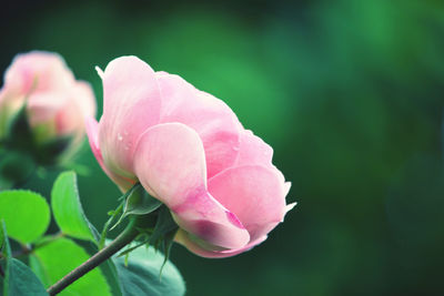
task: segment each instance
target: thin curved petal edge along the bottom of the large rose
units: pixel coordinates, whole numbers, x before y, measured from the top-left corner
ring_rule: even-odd
[[[238,254],[250,251],[251,248],[261,244],[265,239],[266,239],[266,235],[259,237],[254,242],[251,242],[246,246],[241,247],[241,248],[218,251],[218,249],[208,249],[208,248],[203,247],[202,245],[196,243],[193,237],[190,237],[190,235],[182,229],[179,229],[178,234],[174,237],[175,242],[185,246],[190,252],[192,252],[199,256],[205,257],[205,258],[225,258],[225,257],[235,256]]]

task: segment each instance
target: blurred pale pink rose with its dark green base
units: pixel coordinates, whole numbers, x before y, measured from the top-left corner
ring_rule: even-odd
[[[37,162],[53,162],[78,149],[84,120],[94,114],[91,86],[77,81],[57,53],[18,54],[6,71],[0,90],[0,143],[11,150],[24,150]]]

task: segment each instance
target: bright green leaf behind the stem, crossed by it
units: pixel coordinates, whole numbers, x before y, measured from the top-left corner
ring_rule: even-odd
[[[85,262],[90,256],[88,253],[69,238],[58,238],[33,252],[41,263],[41,271],[33,271],[39,276],[44,275],[50,285],[65,276],[69,272]],[[43,282],[44,279],[41,278]],[[48,285],[47,285],[48,286]],[[70,285],[59,295],[111,295],[105,277],[100,268],[94,268]]]

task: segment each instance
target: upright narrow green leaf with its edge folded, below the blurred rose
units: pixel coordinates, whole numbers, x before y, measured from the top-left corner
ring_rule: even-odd
[[[61,173],[56,180],[51,192],[51,206],[56,222],[62,233],[74,238],[97,243],[99,237],[87,220],[80,204],[74,172]]]

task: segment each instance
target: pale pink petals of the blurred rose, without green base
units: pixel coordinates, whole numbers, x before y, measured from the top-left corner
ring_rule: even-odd
[[[18,54],[7,70],[0,91],[0,139],[24,104],[39,143],[64,135],[78,143],[84,135],[84,119],[95,115],[91,86],[75,81],[63,59],[51,52]]]

